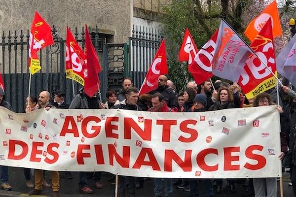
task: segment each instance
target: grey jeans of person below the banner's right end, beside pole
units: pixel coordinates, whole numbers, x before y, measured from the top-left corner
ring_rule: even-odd
[[[254,178],[255,197],[276,197],[276,178]],[[267,195],[265,196],[265,190]]]

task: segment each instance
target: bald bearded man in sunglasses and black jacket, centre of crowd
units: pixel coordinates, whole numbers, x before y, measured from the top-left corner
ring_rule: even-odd
[[[160,75],[158,77],[158,87],[156,90],[151,91],[149,94],[154,95],[155,93],[160,93],[164,96],[164,100],[166,101],[167,105],[171,107],[172,109],[178,110],[178,100],[173,92],[172,89],[170,89],[167,86],[168,78],[165,75]]]

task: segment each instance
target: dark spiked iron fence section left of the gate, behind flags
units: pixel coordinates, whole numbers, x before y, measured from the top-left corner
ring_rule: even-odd
[[[78,44],[84,48],[84,29],[75,28],[73,33]],[[100,38],[98,28],[89,29],[92,42],[99,55],[102,72],[100,73],[101,92],[104,96],[107,91],[107,50],[106,39]],[[66,93],[66,102],[73,99],[72,80],[66,79],[65,74],[65,39],[58,35],[58,31],[53,26],[52,35],[54,44],[41,49],[38,52],[41,70],[32,75],[31,95],[38,96],[42,90],[52,93],[55,90],[63,90]],[[2,77],[5,84],[5,100],[11,103],[16,112],[24,111],[25,99],[28,97],[29,89],[29,30],[14,31],[11,33],[2,32],[0,48],[0,64],[2,65]],[[78,93],[81,88],[74,82],[74,92]]]

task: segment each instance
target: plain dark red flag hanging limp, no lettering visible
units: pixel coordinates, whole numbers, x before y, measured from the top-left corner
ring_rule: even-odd
[[[93,97],[100,88],[99,73],[101,66],[98,54],[91,42],[87,26],[85,25],[85,55],[87,75],[84,81],[84,93],[89,97]]]

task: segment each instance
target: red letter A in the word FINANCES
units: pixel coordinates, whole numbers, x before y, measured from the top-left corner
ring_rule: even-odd
[[[146,158],[146,155],[149,158],[149,161],[144,161]],[[133,166],[133,168],[139,169],[142,165],[149,165],[152,167],[153,170],[160,171],[159,164],[157,163],[157,160],[153,154],[153,151],[151,148],[142,148],[141,152]]]

